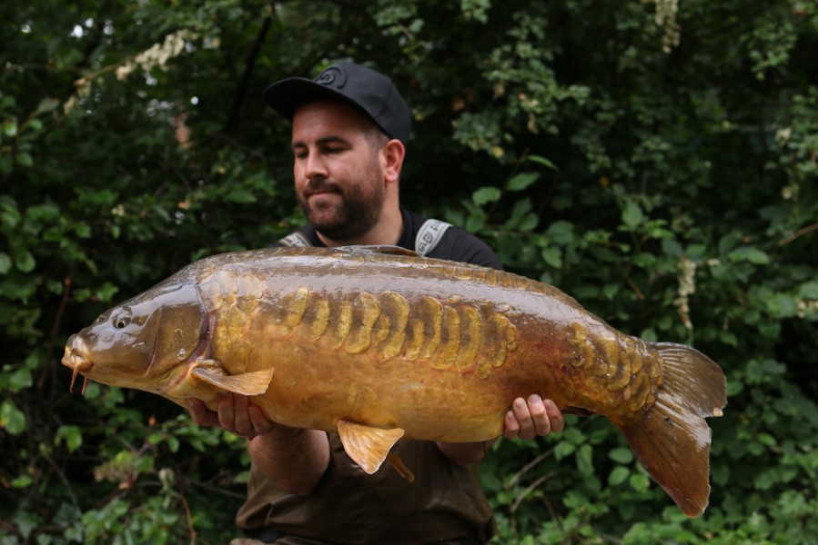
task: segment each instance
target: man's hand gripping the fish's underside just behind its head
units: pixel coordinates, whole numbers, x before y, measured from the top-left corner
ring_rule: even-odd
[[[253,439],[279,426],[268,421],[261,409],[249,400],[246,395],[220,393],[216,399],[216,411],[210,411],[197,399],[187,400],[187,406],[190,417],[198,425],[222,428],[245,439]]]

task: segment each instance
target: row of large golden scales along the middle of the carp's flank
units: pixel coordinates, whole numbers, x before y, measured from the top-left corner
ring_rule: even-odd
[[[410,362],[428,361],[441,370],[454,365],[486,378],[517,348],[516,327],[490,303],[475,308],[423,296],[411,304],[398,292],[344,296],[310,292],[305,286],[275,300],[266,310],[274,336],[303,335],[349,354],[374,351],[380,362],[402,354]],[[236,332],[234,313],[227,312],[231,325],[225,329]]]

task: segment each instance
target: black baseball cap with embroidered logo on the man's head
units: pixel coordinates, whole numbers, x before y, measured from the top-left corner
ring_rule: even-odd
[[[412,127],[409,105],[389,77],[359,64],[333,64],[312,80],[288,77],[271,84],[262,97],[290,121],[301,104],[336,99],[366,114],[390,138],[397,138],[404,145],[409,141]]]

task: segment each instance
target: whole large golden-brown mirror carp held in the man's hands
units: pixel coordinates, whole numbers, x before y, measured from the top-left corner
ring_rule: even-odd
[[[511,401],[539,393],[613,422],[689,516],[710,495],[704,419],[726,404],[701,352],[625,335],[548,284],[383,246],[192,263],[72,335],[63,363],[72,386],[81,374],[185,407],[253,396],[272,421],[338,432],[369,473],[401,437],[498,437]]]

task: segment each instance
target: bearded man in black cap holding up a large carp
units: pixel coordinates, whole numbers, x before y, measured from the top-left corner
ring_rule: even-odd
[[[295,188],[308,226],[279,245],[397,244],[430,257],[500,268],[489,247],[463,229],[426,222],[399,204],[409,139],[409,106],[388,77],[336,64],[315,80],[272,84],[265,101],[292,120]],[[217,411],[190,401],[194,421],[248,440],[252,460],[236,543],[484,543],[494,521],[476,477],[492,441],[399,441],[394,449],[417,477],[384,467],[367,475],[338,434],[267,421],[248,398],[227,394]],[[508,438],[561,431],[552,401],[531,395],[505,416]]]

